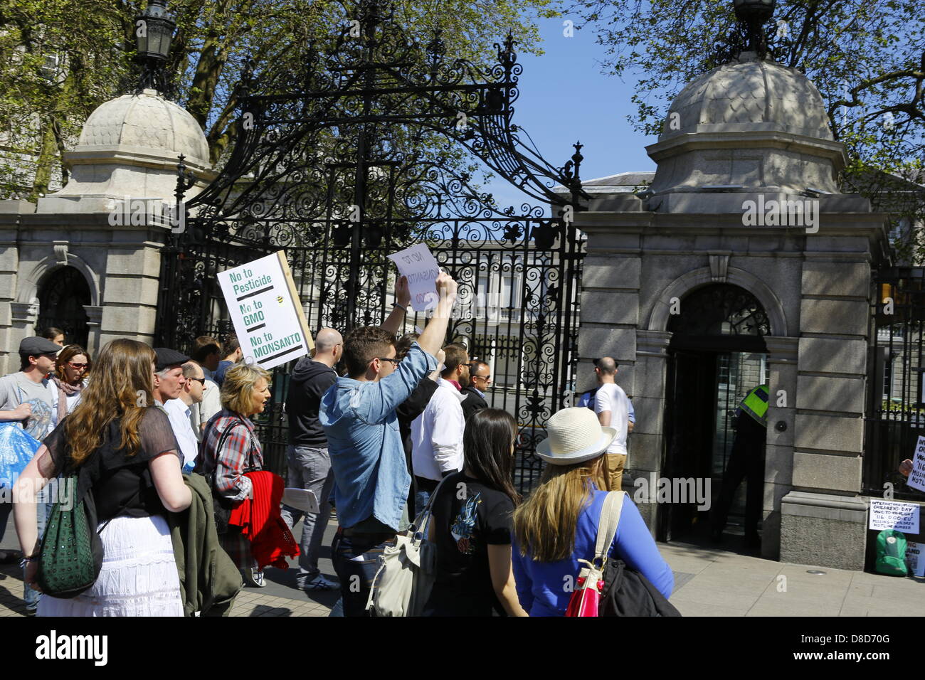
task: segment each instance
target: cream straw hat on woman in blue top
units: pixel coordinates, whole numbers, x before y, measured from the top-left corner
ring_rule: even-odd
[[[581,407],[562,409],[546,424],[547,439],[536,444],[536,455],[554,465],[572,465],[597,458],[607,451],[617,431],[600,427],[598,416]]]

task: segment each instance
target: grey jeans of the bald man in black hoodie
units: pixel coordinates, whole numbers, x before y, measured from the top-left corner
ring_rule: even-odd
[[[299,575],[296,581],[299,587],[305,587],[315,576],[318,570],[318,550],[321,550],[321,541],[325,538],[327,520],[331,517],[331,509],[327,499],[334,488],[334,472],[331,470],[331,458],[327,449],[314,449],[307,446],[290,446],[286,451],[286,460],[289,463],[288,485],[295,488],[307,488],[314,491],[318,498],[320,513],[303,513],[301,510],[283,505],[280,510],[286,524],[294,527],[300,517],[302,522],[302,542],[299,544]]]

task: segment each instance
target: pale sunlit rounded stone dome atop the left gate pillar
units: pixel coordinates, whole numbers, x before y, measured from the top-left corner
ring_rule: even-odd
[[[173,158],[185,155],[188,164],[209,165],[209,144],[199,124],[185,109],[157,96],[154,90],[123,94],[97,106],[83,124],[74,151],[100,146],[156,149]]]

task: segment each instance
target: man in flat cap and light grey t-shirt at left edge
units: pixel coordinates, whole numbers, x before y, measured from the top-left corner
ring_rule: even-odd
[[[19,371],[0,377],[0,421],[16,421],[33,438],[42,441],[57,425],[57,390],[49,384],[48,374],[55,368],[55,357],[61,345],[51,340],[31,337],[19,343]],[[53,482],[39,496],[39,535],[45,528],[45,514],[56,496]],[[42,502],[44,501],[44,502]],[[6,519],[12,503],[0,502],[0,539],[6,529]],[[12,563],[21,558],[19,550],[0,552],[0,563]],[[26,612],[32,614],[39,604],[39,593],[25,586]]]

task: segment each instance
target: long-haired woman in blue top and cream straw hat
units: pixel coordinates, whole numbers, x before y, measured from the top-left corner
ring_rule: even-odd
[[[521,606],[530,616],[562,616],[581,565],[592,560],[607,491],[598,490],[603,454],[616,436],[586,408],[567,408],[549,418],[549,438],[536,446],[548,463],[540,485],[514,511],[512,559]],[[666,598],[672,569],[661,558],[646,523],[629,496],[623,499],[612,557],[646,576]]]

